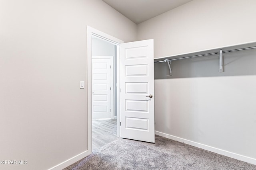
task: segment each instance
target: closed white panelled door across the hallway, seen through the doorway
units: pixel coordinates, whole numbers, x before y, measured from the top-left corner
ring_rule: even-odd
[[[92,119],[111,118],[113,111],[113,58],[92,56]]]

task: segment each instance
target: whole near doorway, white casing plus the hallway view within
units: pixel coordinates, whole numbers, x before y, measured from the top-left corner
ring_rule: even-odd
[[[106,139],[120,136],[120,43],[123,41],[87,26],[88,154],[108,143]],[[101,69],[110,66],[110,71]],[[112,80],[107,78],[110,74]]]

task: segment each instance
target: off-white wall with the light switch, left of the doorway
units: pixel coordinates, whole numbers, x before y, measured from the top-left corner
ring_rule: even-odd
[[[0,160],[45,170],[87,150],[86,26],[125,42],[136,24],[101,0],[0,0]]]

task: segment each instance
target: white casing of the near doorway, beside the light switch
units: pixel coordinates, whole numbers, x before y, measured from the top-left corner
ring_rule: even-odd
[[[87,26],[87,150],[92,153],[92,35],[99,37],[117,46],[116,51],[116,80],[119,88],[119,45],[124,41],[112,37],[102,31]],[[119,90],[117,90],[119,92]],[[119,93],[117,94],[117,122],[120,122]],[[120,126],[117,126],[117,135],[120,136]]]

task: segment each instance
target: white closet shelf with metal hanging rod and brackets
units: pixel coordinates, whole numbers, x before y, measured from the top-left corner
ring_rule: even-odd
[[[159,57],[154,59],[154,63],[162,63],[167,62],[168,67],[170,69],[170,75],[172,75],[172,68],[171,62],[175,60],[182,60],[182,59],[191,59],[195,57],[204,57],[204,56],[216,56],[219,55],[219,72],[223,72],[223,53],[230,53],[235,51],[242,51],[242,50],[249,50],[249,49],[256,49],[256,41],[248,42],[248,43],[241,43],[236,45],[229,45],[224,47],[218,47],[214,49],[206,49],[202,51],[194,51],[191,53],[183,53],[178,55],[171,55],[166,57]]]

